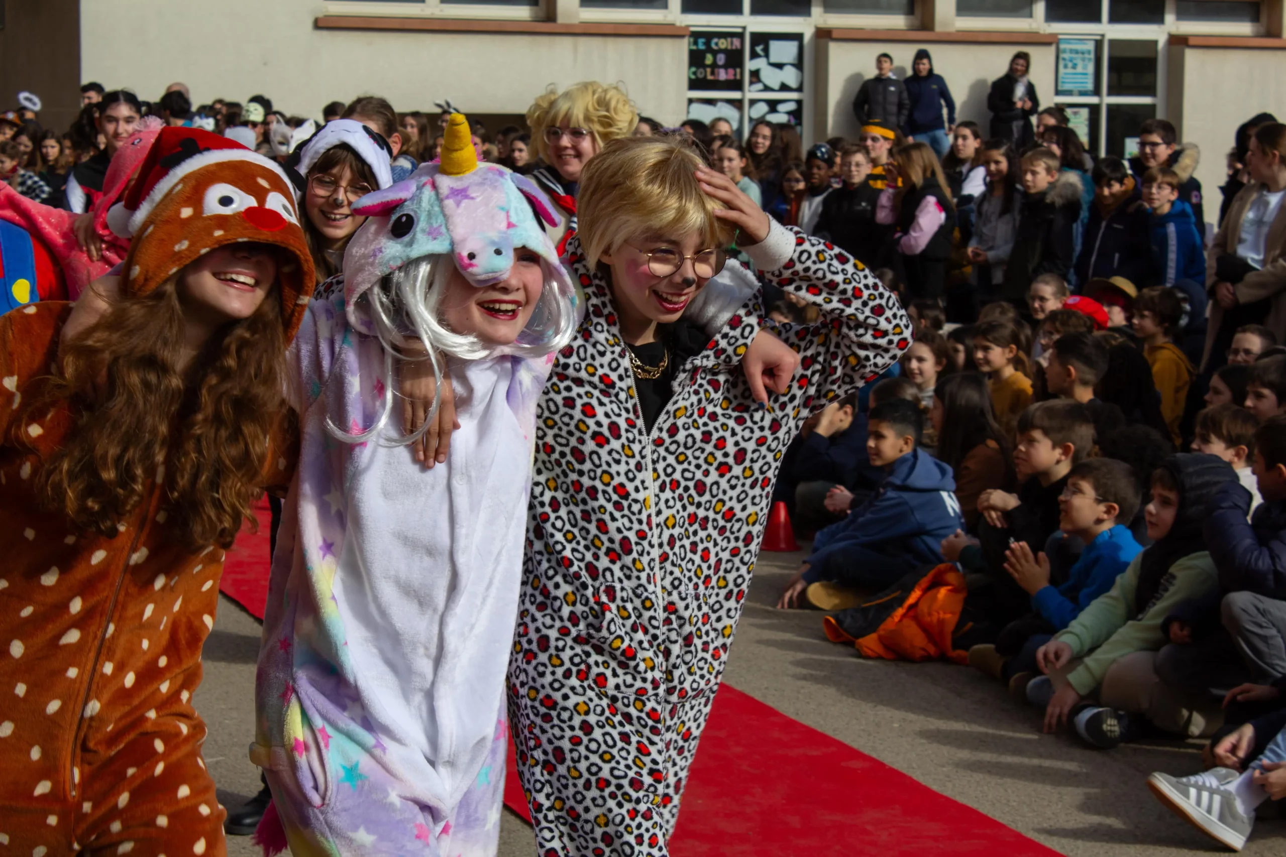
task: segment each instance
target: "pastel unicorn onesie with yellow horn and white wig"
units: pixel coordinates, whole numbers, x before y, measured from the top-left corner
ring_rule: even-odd
[[[342,296],[312,301],[288,353],[300,465],[251,759],[297,856],[494,854],[535,405],[574,330],[575,288],[540,225],[556,220],[549,200],[480,164],[463,116],[440,163],[354,211],[370,218],[349,245]],[[493,346],[442,328],[435,299],[449,278],[502,283],[516,248],[544,274],[518,338]],[[395,352],[415,339],[458,402],[450,455],[432,469],[388,427]],[[274,825],[270,811],[269,851]]]

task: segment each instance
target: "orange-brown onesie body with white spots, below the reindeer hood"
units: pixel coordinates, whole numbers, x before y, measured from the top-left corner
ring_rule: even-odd
[[[69,312],[41,302],[0,317],[0,845],[221,854],[226,813],[190,703],[224,552],[184,547],[154,483],[114,538],[40,508],[41,457],[71,416],[14,421]]]

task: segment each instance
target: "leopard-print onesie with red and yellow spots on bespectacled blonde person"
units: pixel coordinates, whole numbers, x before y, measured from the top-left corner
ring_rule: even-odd
[[[738,365],[755,298],[684,365],[651,434],[608,284],[568,243],[586,315],[539,403],[509,667],[541,857],[667,853],[782,454],[809,414],[909,344],[896,299],[842,251],[784,227],[773,242],[781,267],[761,275],[823,314],[774,328],[800,352],[796,383],[755,406]]]

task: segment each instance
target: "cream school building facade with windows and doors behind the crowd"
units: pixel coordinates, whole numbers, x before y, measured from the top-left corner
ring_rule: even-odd
[[[989,84],[1026,50],[1042,105],[1067,108],[1093,152],[1128,154],[1139,122],[1168,118],[1201,146],[1213,195],[1237,125],[1286,117],[1283,3],[0,0],[0,109],[19,89],[57,89],[41,94],[63,110],[80,81],[156,99],[177,80],[197,103],[264,93],[306,116],[361,94],[513,116],[547,85],[599,80],[662,123],[727,116],[743,134],[768,117],[811,143],[856,135],[878,53],[905,77],[927,48],[957,118],[985,135]]]

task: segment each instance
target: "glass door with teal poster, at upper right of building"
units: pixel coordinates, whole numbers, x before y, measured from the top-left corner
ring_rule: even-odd
[[[1157,116],[1168,14],[1166,0],[1046,0],[1058,33],[1053,103],[1094,154],[1133,157],[1139,125]]]

